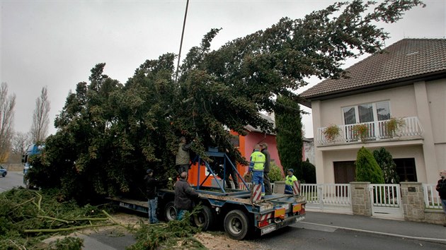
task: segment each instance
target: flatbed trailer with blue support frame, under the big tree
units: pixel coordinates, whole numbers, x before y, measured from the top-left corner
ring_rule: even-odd
[[[205,181],[212,175],[217,179],[215,172],[209,163],[198,157],[194,167],[207,169],[207,177],[196,184],[191,185],[200,194],[195,204],[200,203],[201,209],[193,215],[193,223],[202,230],[211,230],[222,225],[224,231],[232,239],[245,239],[250,234],[268,234],[281,227],[295,224],[305,218],[304,196],[298,194],[298,185],[295,185],[294,194],[271,194],[261,198],[256,196],[260,191],[260,185],[248,185],[234,167],[225,153],[206,152],[208,157],[222,157],[224,168],[232,167],[243,182],[243,189],[225,189],[221,181],[215,181],[214,186],[204,186]],[[158,191],[158,214],[166,221],[176,220],[176,208],[173,205],[175,194],[170,189],[159,189]],[[147,201],[135,201],[125,198],[109,198],[116,205],[147,213]],[[160,213],[161,212],[161,213]]]

